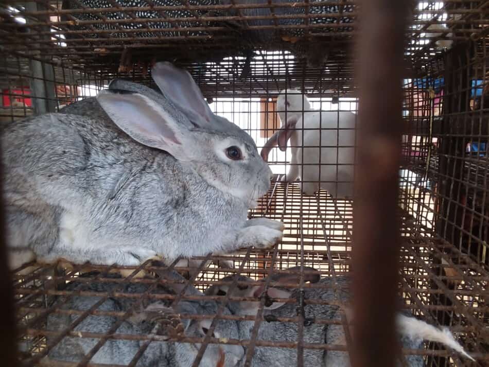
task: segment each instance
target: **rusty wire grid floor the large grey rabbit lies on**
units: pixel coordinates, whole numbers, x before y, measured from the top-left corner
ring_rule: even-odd
[[[348,217],[352,214],[351,203],[342,200],[331,200],[325,193],[320,193],[317,197],[309,198],[303,201],[303,218],[304,223],[299,225],[299,228],[294,228],[297,223],[297,218],[294,218],[296,206],[300,205],[301,195],[293,185],[284,185],[274,182],[268,197],[275,197],[279,207],[275,216],[281,217],[287,224],[288,231],[284,241],[272,253],[255,253],[248,250],[243,251],[233,256],[220,256],[221,259],[231,259],[234,261],[235,269],[219,269],[219,268],[203,268],[204,263],[209,257],[199,258],[202,263],[198,268],[176,268],[181,271],[190,271],[193,276],[187,284],[193,284],[200,289],[205,289],[208,286],[216,284],[224,275],[230,273],[238,273],[251,276],[259,279],[265,275],[270,275],[276,271],[283,271],[290,266],[298,264],[300,254],[297,251],[298,242],[306,242],[306,239],[313,239],[315,243],[310,246],[304,245],[303,252],[304,265],[313,266],[321,270],[322,276],[338,276],[349,270],[347,255],[353,246],[350,237],[351,224],[348,222]],[[282,205],[282,207],[280,207]],[[484,294],[487,287],[487,272],[478,264],[471,260],[467,255],[461,253],[456,247],[440,238],[432,238],[431,234],[425,232],[425,229],[416,225],[404,211],[400,211],[400,216],[403,217],[403,248],[401,250],[400,259],[400,274],[401,283],[399,293],[405,298],[406,304],[403,306],[409,309],[413,314],[423,317],[428,321],[435,322],[439,314],[448,312],[451,314],[450,330],[459,335],[463,341],[464,347],[478,359],[481,365],[489,360],[489,349],[484,344],[487,340],[487,306],[485,304]],[[253,212],[251,213],[253,217]],[[308,216],[317,216],[317,220],[311,225],[312,228],[307,228],[309,222]],[[341,221],[344,227],[337,233],[338,230],[331,230],[334,227],[336,218]],[[324,243],[322,246],[319,243]],[[295,249],[294,249],[295,248]],[[447,260],[446,265],[436,265],[434,260]],[[175,263],[170,266],[174,267]],[[96,338],[100,341],[97,348],[91,351],[90,356],[93,356],[98,347],[101,347],[107,340],[141,340],[144,343],[141,345],[141,354],[136,354],[129,365],[135,365],[138,358],[144,353],[149,342],[166,341],[167,336],[150,336],[150,335],[121,335],[117,331],[111,330],[110,333],[90,333],[89,331],[74,330],[75,326],[88,317],[89,314],[95,316],[110,315],[117,318],[117,325],[120,325],[127,319],[132,312],[138,311],[138,305],[146,302],[146,300],[164,300],[171,302],[177,300],[180,302],[187,299],[194,299],[196,296],[188,296],[185,294],[162,294],[155,291],[158,287],[158,279],[135,278],[134,275],[141,269],[153,269],[148,262],[136,269],[132,268],[131,274],[127,277],[114,278],[108,275],[112,267],[89,267],[90,270],[98,270],[100,273],[89,277],[77,277],[78,272],[88,271],[84,266],[75,266],[72,270],[68,270],[64,275],[54,275],[54,267],[42,267],[39,265],[29,264],[31,270],[27,271],[27,267],[23,270],[24,274],[15,276],[14,287],[16,291],[18,321],[19,327],[22,330],[22,341],[26,348],[25,359],[26,365],[51,365],[51,366],[75,366],[75,365],[92,365],[88,364],[90,358],[86,358],[82,363],[54,361],[52,359],[41,359],[48,355],[49,351],[59,340],[64,336],[75,338]],[[153,269],[154,270],[154,269]],[[450,271],[455,270],[455,271]],[[198,273],[198,275],[196,274]],[[76,291],[63,290],[63,285],[67,282],[78,282],[83,284]],[[111,293],[94,292],[91,289],[86,289],[88,285],[103,282],[114,282],[116,287]],[[222,282],[222,281],[221,281]],[[144,294],[125,292],[124,285],[128,283],[146,284],[147,291]],[[448,285],[445,285],[448,284]],[[273,282],[270,284],[273,285]],[[455,285],[450,287],[450,285]],[[231,285],[233,286],[233,285]],[[236,286],[236,285],[234,285]],[[293,286],[293,285],[290,285]],[[296,285],[295,285],[296,286]],[[305,287],[321,287],[317,284],[305,284]],[[324,286],[323,286],[324,287]],[[62,308],[68,299],[75,295],[96,296],[100,298],[98,302],[88,311],[73,310]],[[452,300],[451,305],[444,305],[433,302],[440,296],[447,296]],[[97,310],[103,304],[103,300],[111,299],[133,299],[133,308],[127,312],[107,312]],[[197,296],[199,298],[199,296]],[[213,296],[212,299],[220,301],[228,301],[229,296]],[[298,304],[298,300],[292,299],[290,302]],[[321,304],[324,301],[307,299],[305,304]],[[341,304],[339,299],[335,300],[335,304]],[[262,302],[263,307],[263,302]],[[46,320],[51,313],[61,314],[77,314],[79,318],[76,322],[69,325],[63,330],[47,330]],[[242,315],[181,315],[182,318],[199,319],[249,319],[254,320],[254,317]],[[260,316],[257,317],[257,324],[261,322],[269,322],[263,320]],[[299,317],[281,320],[278,322],[300,322]],[[313,320],[320,324],[338,324],[340,320]],[[202,343],[202,348],[205,348],[207,343],[231,343],[243,345],[249,348],[260,346],[288,347],[297,348],[297,342],[273,342],[267,340],[256,340],[255,337],[251,340],[219,340],[215,338],[205,338]],[[51,344],[46,345],[46,337],[51,338]],[[56,338],[56,339],[54,339]],[[55,342],[53,342],[53,339]],[[179,336],[170,338],[169,341],[179,342],[201,342],[198,338],[187,338]],[[328,345],[328,344],[307,344],[303,343],[303,348],[322,348],[325,350],[344,350],[344,346]],[[406,351],[412,354],[426,355],[427,365],[442,365],[440,364],[443,357],[451,357],[451,363],[457,365],[478,365],[460,361],[457,356],[451,355],[450,352],[440,349],[436,344],[429,344],[425,349],[416,351]],[[32,358],[32,359],[31,359]],[[197,364],[196,364],[197,363]],[[465,364],[464,364],[465,363]],[[111,365],[111,364],[109,364]],[[194,362],[198,365],[198,362]],[[301,365],[299,363],[299,365]],[[451,365],[451,364],[450,364]]]

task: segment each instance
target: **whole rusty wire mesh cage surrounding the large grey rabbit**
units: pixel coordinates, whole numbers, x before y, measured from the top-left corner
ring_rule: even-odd
[[[263,146],[266,138],[280,126],[274,109],[277,93],[282,89],[294,88],[306,93],[315,109],[357,111],[353,62],[348,49],[355,35],[354,22],[340,20],[354,20],[358,11],[355,2],[340,3],[337,11],[320,15],[311,11],[315,7],[310,2],[293,3],[294,7],[304,9],[304,14],[294,13],[298,20],[294,23],[286,22],[290,15],[287,18],[268,14],[256,19],[250,15],[251,10],[247,11],[267,7],[282,7],[285,11],[292,3],[204,6],[175,2],[160,6],[148,2],[146,8],[126,8],[108,2],[100,3],[106,4],[103,9],[100,6],[66,10],[67,2],[63,6],[61,2],[39,1],[28,6],[21,1],[5,2],[0,23],[0,45],[4,53],[0,60],[0,118],[4,123],[35,112],[55,112],[65,104],[94,96],[118,76],[154,85],[148,75],[151,60],[172,59],[187,67],[214,112],[247,130],[258,147]],[[338,5],[332,1],[313,4]],[[161,16],[143,18],[139,11],[154,11]],[[473,363],[463,359],[438,343],[425,342],[422,349],[405,351],[408,355],[423,355],[429,366],[489,363],[486,304],[489,121],[488,101],[484,99],[488,11],[486,2],[482,1],[423,2],[416,4],[412,27],[408,30],[405,160],[400,170],[398,213],[402,236],[399,294],[406,311],[434,325],[448,326],[477,360]],[[172,17],[166,12],[184,15]],[[118,19],[111,19],[110,13],[118,14]],[[318,19],[327,21],[321,23]],[[137,27],[127,26],[134,24]],[[164,29],[157,27],[162,24]],[[450,29],[430,31],[428,27],[434,24],[446,24]],[[260,39],[253,32],[269,29],[280,31],[270,39]],[[301,58],[308,53],[303,39],[320,40],[320,47],[329,48],[328,60],[322,67],[308,67],[307,60]],[[436,44],[440,41],[455,43],[445,52]],[[124,67],[120,68],[121,65]],[[38,72],[34,73],[36,69]],[[285,223],[285,235],[277,247],[269,252],[249,249],[232,255],[197,258],[191,267],[174,263],[170,269],[179,270],[187,277],[188,285],[199,290],[221,284],[225,275],[241,274],[258,280],[273,273],[286,273],[288,268],[301,264],[320,270],[325,278],[347,275],[354,246],[352,200],[333,199],[324,190],[307,197],[296,184],[280,182],[278,177],[286,173],[289,160],[290,150],[272,150],[269,163],[275,176],[271,188],[258,207],[250,211],[250,217],[266,215]],[[228,260],[234,268],[217,267],[210,260]],[[168,333],[169,322],[186,318],[256,319],[255,330],[270,322],[299,323],[299,314],[277,320],[263,317],[265,298],[260,299],[258,317],[226,314],[221,307],[216,313],[205,315],[167,314],[163,322],[155,322],[166,327],[167,335],[118,331],[124,330],[128,319],[142,313],[142,307],[148,303],[162,301],[169,306],[202,299],[201,295],[168,292],[165,288],[168,281],[162,282],[154,275],[159,268],[161,264],[147,262],[139,268],[126,269],[122,275],[117,275],[118,270],[111,266],[28,264],[17,269],[13,287],[23,363],[134,366],[143,363],[149,350],[159,342],[193,344],[197,357],[188,365],[195,366],[202,360],[204,349],[212,345],[242,345],[247,351],[270,346],[278,353],[283,349],[297,352],[304,349],[306,353],[318,349],[345,350],[344,345],[335,343],[267,340],[259,339],[256,334],[249,340],[215,338],[212,332],[217,321],[207,328],[211,330],[209,333],[199,336],[179,334],[178,330]],[[144,278],[139,273],[142,269],[146,271]],[[239,288],[242,284],[229,285]],[[267,286],[273,286],[273,282]],[[289,289],[295,287],[296,284],[286,285]],[[336,292],[344,286],[334,280],[304,287]],[[77,298],[92,301],[89,307],[77,309],[73,307]],[[205,298],[223,304],[233,300],[232,296],[220,295]],[[124,307],[110,311],[104,308],[108,302]],[[300,298],[291,298],[289,302],[299,309],[304,306],[299,303]],[[326,301],[310,298],[304,302],[307,305]],[[327,302],[335,306],[344,304],[338,295]],[[54,316],[65,321],[56,324],[58,329],[52,326]],[[88,318],[108,317],[113,318],[111,330],[82,327]],[[344,324],[344,320],[315,319],[313,324]],[[81,339],[93,342],[88,349],[77,349],[75,360],[57,359],[56,347],[63,345],[66,337],[72,337],[73,345]],[[92,357],[97,356],[100,348],[115,340],[137,341],[137,347],[124,361],[93,362]],[[243,357],[248,361],[250,358]],[[302,365],[301,361],[292,363]]]

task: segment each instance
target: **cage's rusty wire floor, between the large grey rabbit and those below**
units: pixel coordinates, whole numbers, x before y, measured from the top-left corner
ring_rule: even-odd
[[[185,333],[174,335],[170,333],[169,336],[163,337],[161,334],[149,331],[148,334],[135,335],[125,333],[122,329],[127,320],[150,301],[172,304],[196,301],[200,300],[202,295],[191,294],[186,289],[194,286],[204,291],[210,286],[222,284],[222,277],[232,274],[249,276],[259,282],[263,278],[270,279],[273,274],[286,274],[290,272],[288,268],[301,264],[319,270],[322,277],[331,277],[333,282],[327,287],[336,292],[334,299],[328,302],[323,299],[308,298],[305,300],[306,304],[343,305],[344,300],[338,295],[343,286],[338,279],[353,271],[349,262],[350,252],[354,246],[352,212],[350,199],[332,199],[324,191],[320,191],[314,197],[305,197],[301,195],[296,185],[284,184],[274,177],[269,193],[255,209],[250,211],[250,217],[266,215],[282,220],[286,225],[282,242],[269,251],[256,251],[250,248],[232,255],[196,258],[195,261],[190,261],[184,266],[175,262],[169,265],[169,269],[178,270],[187,280],[184,283],[186,287],[182,285],[179,288],[180,292],[172,294],[158,290],[163,282],[161,272],[168,271],[168,268],[165,268],[166,270],[162,268],[161,263],[155,265],[147,261],[138,268],[119,269],[114,266],[86,264],[70,266],[28,264],[16,271],[13,285],[24,363],[44,366],[120,365],[112,362],[105,364],[90,362],[100,350],[103,351],[104,347],[117,340],[138,343],[132,357],[123,365],[135,365],[139,359],[144,359],[149,345],[162,341],[200,343],[194,344],[198,345],[196,348],[199,351],[202,348],[204,351],[205,348],[212,348],[216,343],[242,345],[247,348],[268,346],[304,348],[306,351],[318,349],[344,351],[344,347],[327,342],[319,344],[306,341],[298,344],[296,341],[264,340],[258,338],[257,333],[249,340],[240,340],[219,339],[214,336],[212,338],[188,336]],[[448,326],[477,362],[473,364],[466,359],[461,359],[436,343],[426,343],[423,349],[405,352],[424,355],[425,365],[445,365],[442,364],[442,360],[445,360],[448,365],[487,365],[489,310],[486,304],[486,289],[489,274],[453,244],[436,236],[427,226],[418,224],[419,221],[404,209],[399,208],[399,217],[402,239],[399,294],[404,299],[403,308],[431,324]],[[223,261],[232,263],[233,267],[220,266]],[[155,276],[155,273],[159,276]],[[306,276],[305,271],[295,274],[297,278]],[[169,281],[171,282],[178,283]],[[234,287],[236,281],[233,282]],[[239,283],[238,281],[238,287]],[[273,279],[270,283],[273,285]],[[289,284],[289,286],[297,287],[297,284]],[[306,290],[326,287],[311,283],[305,283],[303,286]],[[135,287],[137,291],[131,287]],[[92,301],[85,308],[73,307],[73,300],[81,298]],[[219,295],[206,296],[206,299],[223,300]],[[229,295],[224,297],[225,302],[228,302],[228,299],[230,299]],[[129,302],[130,306],[117,310],[104,308],[108,302],[118,302],[118,304]],[[258,317],[225,314],[222,311],[223,307],[211,314],[202,315],[192,312],[183,312],[183,314],[190,320],[255,322],[256,319],[259,328],[260,323],[268,322],[262,318],[263,314],[260,312],[263,310],[264,302],[259,309]],[[289,300],[289,303],[294,302],[298,300]],[[58,320],[63,317],[64,323],[55,323],[56,327],[53,327],[53,318]],[[84,320],[97,317],[114,318],[116,322],[110,330],[80,329],[80,326],[86,322]],[[176,317],[182,317],[181,313]],[[300,315],[279,318],[278,322],[299,323]],[[313,322],[323,325],[344,324],[344,320],[314,320]],[[90,339],[92,342],[85,344],[85,346],[90,345],[88,349],[81,348],[78,351],[79,359],[76,362],[53,360],[53,356],[56,357],[58,353],[57,347],[66,348],[67,345],[73,347],[76,344],[76,342],[66,344],[65,339],[68,337],[71,340]],[[200,358],[205,356],[204,351],[199,352]],[[194,365],[198,364],[194,362]],[[298,365],[302,364],[298,363]]]

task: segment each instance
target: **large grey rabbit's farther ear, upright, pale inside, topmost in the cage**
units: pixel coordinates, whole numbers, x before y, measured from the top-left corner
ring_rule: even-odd
[[[151,76],[165,97],[190,121],[200,127],[211,123],[214,114],[188,72],[169,62],[158,62],[151,69]]]

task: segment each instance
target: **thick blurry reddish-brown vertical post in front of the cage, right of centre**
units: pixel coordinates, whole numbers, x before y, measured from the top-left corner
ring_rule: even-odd
[[[409,1],[363,0],[353,229],[353,367],[393,367],[404,40]]]

